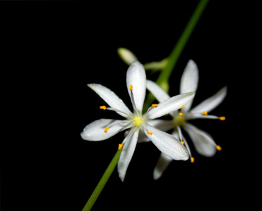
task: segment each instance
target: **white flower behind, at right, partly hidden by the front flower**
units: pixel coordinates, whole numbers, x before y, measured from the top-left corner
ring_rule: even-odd
[[[151,91],[153,95],[157,98],[157,101],[162,102],[166,101],[169,98],[169,95],[157,84],[155,84],[155,82],[147,80],[146,86],[147,89]],[[189,60],[189,63],[187,63],[186,68],[181,77],[180,93],[185,93],[188,91],[195,92],[197,87],[198,68],[196,66],[196,63],[193,62],[193,60]],[[223,87],[222,89],[220,89],[220,91],[218,91],[217,94],[211,96],[210,98],[207,98],[198,106],[190,110],[193,101],[192,100],[186,106],[182,106],[180,112],[174,110],[172,113],[169,113],[170,115],[172,115],[173,120],[162,120],[162,122],[156,122],[156,124],[153,126],[159,127],[159,125],[165,125],[162,126],[163,131],[167,131],[170,129],[170,127],[173,127],[174,132],[172,132],[172,135],[177,137],[177,139],[180,139],[182,143],[186,145],[186,148],[189,151],[189,155],[191,157],[189,145],[186,142],[186,139],[184,139],[184,136],[181,134],[182,127],[189,134],[191,140],[193,141],[193,145],[196,148],[196,151],[201,155],[211,157],[215,155],[216,150],[220,151],[221,147],[215,143],[210,134],[204,132],[201,129],[198,129],[197,127],[193,126],[193,124],[190,124],[187,121],[198,118],[225,120],[225,117],[208,115],[208,113],[214,108],[216,108],[223,101],[226,94],[227,87]],[[165,171],[165,169],[169,165],[169,162],[171,161],[172,159],[169,158],[168,155],[165,155],[165,153],[162,153],[160,155],[160,159],[157,161],[157,165],[154,170],[154,179],[158,179],[161,177],[162,173]],[[191,157],[191,162],[193,162],[193,157]]]

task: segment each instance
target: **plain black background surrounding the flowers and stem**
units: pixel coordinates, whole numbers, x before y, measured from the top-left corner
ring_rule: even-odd
[[[86,124],[121,119],[100,110],[104,101],[86,85],[112,89],[130,108],[128,66],[117,49],[130,49],[141,63],[162,60],[196,5],[197,1],[163,1],[119,7],[60,1],[16,2],[16,10],[13,4],[2,7],[8,8],[2,18],[1,49],[8,73],[2,77],[7,117],[7,136],[1,141],[3,210],[82,210],[123,140],[123,133],[106,141],[81,139]],[[227,119],[192,121],[210,133],[222,151],[205,158],[187,138],[195,162],[173,161],[155,181],[153,168],[160,151],[153,143],[140,143],[124,183],[114,170],[93,210],[213,210],[250,202],[246,188],[256,170],[248,162],[253,151],[246,127],[250,119],[243,118],[248,112],[244,109],[252,106],[246,101],[247,77],[252,75],[247,57],[253,53],[249,46],[256,34],[251,26],[256,7],[210,1],[169,81],[169,94],[179,94],[181,74],[193,59],[199,70],[193,106],[227,85],[227,97],[210,113]],[[147,72],[148,79],[157,75]]]

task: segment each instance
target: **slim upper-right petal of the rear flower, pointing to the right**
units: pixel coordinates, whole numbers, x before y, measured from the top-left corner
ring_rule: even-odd
[[[191,112],[202,113],[204,110],[210,112],[224,100],[226,95],[227,95],[227,87],[223,87],[215,95],[211,96],[210,98],[207,98],[205,101],[203,101],[198,106],[193,108]]]

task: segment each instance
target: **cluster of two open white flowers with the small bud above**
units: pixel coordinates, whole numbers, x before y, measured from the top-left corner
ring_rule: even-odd
[[[181,128],[189,134],[196,151],[201,155],[210,157],[215,154],[216,150],[221,150],[210,134],[187,121],[196,118],[225,120],[225,117],[208,115],[208,113],[225,98],[227,87],[222,88],[217,94],[191,109],[193,97],[198,87],[198,68],[193,60],[189,60],[181,77],[180,94],[170,97],[155,82],[146,79],[145,75],[145,66],[153,65],[157,69],[161,69],[165,66],[166,62],[164,61],[166,60],[142,65],[136,56],[127,49],[119,49],[119,55],[130,65],[126,72],[126,87],[131,98],[133,112],[107,87],[101,84],[88,84],[88,87],[107,103],[105,106],[100,106],[100,109],[112,110],[124,117],[124,120],[96,120],[83,129],[81,137],[87,141],[102,141],[126,130],[124,141],[119,144],[121,155],[117,168],[121,181],[124,181],[126,170],[138,142],[152,141],[161,152],[154,170],[154,179],[161,177],[172,160],[188,160],[190,158],[193,162],[189,144],[184,139]],[[143,114],[146,89],[155,96],[159,103],[152,104]],[[172,120],[157,119],[167,114],[172,116]],[[172,134],[168,134],[167,132],[171,129],[173,129]]]

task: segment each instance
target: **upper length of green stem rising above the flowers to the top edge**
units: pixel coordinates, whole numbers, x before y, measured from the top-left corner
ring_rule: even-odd
[[[186,45],[186,42],[189,40],[190,35],[193,32],[193,29],[196,27],[196,23],[198,23],[199,18],[201,17],[204,9],[206,8],[206,5],[208,4],[208,0],[201,0],[199,1],[198,5],[196,6],[195,11],[193,12],[189,23],[187,23],[184,32],[179,37],[179,40],[177,41],[176,46],[174,46],[174,49],[170,53],[170,55],[167,57],[168,62],[166,67],[161,71],[160,76],[157,78],[156,83],[162,87],[162,89],[165,89],[165,91],[169,91],[169,84],[168,80],[172,73],[172,70],[174,70],[174,66],[177,63],[177,60],[181,54],[181,52],[184,49],[184,46]],[[148,94],[148,98],[146,98],[144,108],[149,108],[151,103],[154,101],[155,97],[153,94]]]

